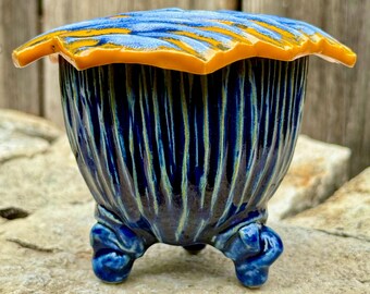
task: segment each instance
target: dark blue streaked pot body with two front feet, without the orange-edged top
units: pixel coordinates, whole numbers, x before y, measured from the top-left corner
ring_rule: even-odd
[[[92,265],[124,280],[156,242],[210,244],[257,286],[282,252],[263,225],[286,173],[307,58],[247,59],[209,75],[60,60],[67,135],[98,203]]]

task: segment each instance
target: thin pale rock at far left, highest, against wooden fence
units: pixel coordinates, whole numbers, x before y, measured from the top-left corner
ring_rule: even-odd
[[[10,109],[0,109],[0,128],[48,142],[54,140],[62,134],[62,131],[50,121]]]

